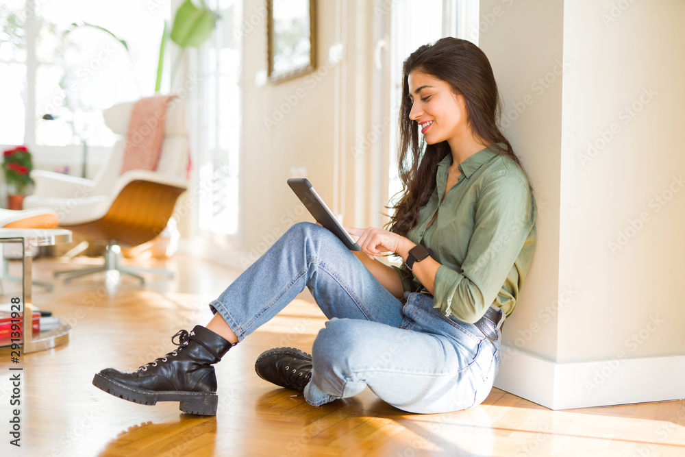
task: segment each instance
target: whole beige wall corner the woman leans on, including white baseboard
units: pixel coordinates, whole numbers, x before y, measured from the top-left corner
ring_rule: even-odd
[[[542,207],[496,385],[552,408],[685,397],[685,3],[482,0],[481,16]]]

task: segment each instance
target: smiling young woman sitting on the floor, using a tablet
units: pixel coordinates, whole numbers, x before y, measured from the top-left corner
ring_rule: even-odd
[[[530,269],[534,197],[497,128],[497,84],[480,49],[443,38],[412,53],[403,73],[403,196],[390,230],[349,229],[362,248],[352,253],[319,225],[293,225],[212,301],[206,328],[181,330],[177,349],[133,373],[97,373],[95,386],[214,415],[212,364],[308,287],[330,320],[312,355],[288,347],[260,355],[264,380],[302,391],[312,406],[366,386],[409,412],[460,410],[487,397],[501,325]],[[382,253],[403,266],[375,260]]]

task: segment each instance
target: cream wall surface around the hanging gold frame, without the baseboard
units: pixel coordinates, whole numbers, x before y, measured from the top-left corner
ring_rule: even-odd
[[[344,2],[316,2],[316,70],[309,75],[256,86],[253,84],[256,74],[266,69],[266,21],[245,36],[240,177],[245,193],[245,251],[263,247],[264,240],[292,225],[293,214],[301,214],[297,197],[286,185],[291,167],[305,167],[323,199],[338,206],[338,212],[344,212],[346,208],[341,203],[350,200],[343,199],[340,191],[345,187],[343,181],[353,182],[352,172],[340,170],[340,164],[345,163],[340,156],[345,151],[338,151],[336,156],[334,150],[336,145],[340,148],[340,145],[353,143],[354,112],[348,108],[345,119],[336,117],[336,112],[353,105],[360,95],[355,78],[360,56],[356,53],[356,34],[342,36],[340,27],[345,27],[346,21],[336,15],[336,8],[340,8],[341,3]],[[351,3],[347,6],[347,14],[354,18],[358,14],[356,4],[347,3]],[[245,17],[249,18],[262,6],[261,0],[245,1]],[[349,27],[353,32],[359,30],[363,36],[363,22],[350,23]],[[333,65],[328,60],[329,48],[342,39],[345,39],[343,60]],[[346,92],[340,94],[343,73],[347,74],[347,87]],[[268,122],[267,127],[264,119],[276,123]],[[349,158],[347,162],[350,162]],[[351,165],[347,163],[347,166]],[[310,217],[301,214],[298,219]]]

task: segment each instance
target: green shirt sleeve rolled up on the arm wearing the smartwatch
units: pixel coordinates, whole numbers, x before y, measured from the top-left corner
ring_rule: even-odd
[[[534,227],[532,198],[527,183],[514,173],[498,173],[483,183],[461,268],[443,264],[436,273],[436,308],[467,323],[485,314]]]

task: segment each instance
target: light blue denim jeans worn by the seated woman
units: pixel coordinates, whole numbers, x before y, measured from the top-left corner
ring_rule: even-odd
[[[475,325],[445,317],[430,295],[406,293],[403,305],[319,225],[290,227],[210,307],[242,341],[305,286],[330,319],[312,349],[309,404],[369,386],[401,410],[448,412],[480,404],[490,393],[499,338],[491,343]]]

